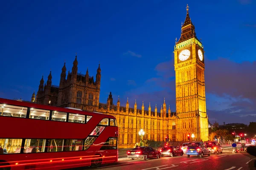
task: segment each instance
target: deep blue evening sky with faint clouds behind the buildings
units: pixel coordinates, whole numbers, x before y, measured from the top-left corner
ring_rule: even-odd
[[[175,37],[189,15],[205,50],[210,122],[256,121],[256,17],[253,0],[2,1],[0,97],[30,100],[52,70],[59,84],[77,53],[79,72],[96,76],[100,102],[112,91],[125,105],[167,105],[175,111]]]

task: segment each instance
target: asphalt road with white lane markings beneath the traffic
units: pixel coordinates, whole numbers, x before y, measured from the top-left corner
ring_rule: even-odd
[[[186,155],[174,157],[161,157],[160,159],[130,160],[119,159],[116,164],[102,165],[97,168],[85,168],[84,170],[256,170],[254,167],[256,157],[246,152],[232,153],[231,148],[225,149],[218,155],[197,156]]]

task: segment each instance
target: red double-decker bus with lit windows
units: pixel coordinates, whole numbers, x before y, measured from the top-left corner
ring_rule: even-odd
[[[59,170],[118,159],[113,116],[0,98],[0,170]]]

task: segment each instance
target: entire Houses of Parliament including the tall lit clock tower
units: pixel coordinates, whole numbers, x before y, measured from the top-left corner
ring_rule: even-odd
[[[72,72],[66,75],[66,66],[61,70],[59,86],[52,85],[51,72],[47,82],[42,77],[38,92],[32,95],[32,102],[58,107],[79,108],[83,111],[96,111],[116,117],[119,127],[119,148],[133,147],[140,142],[138,132],[145,131],[143,139],[165,141],[188,141],[188,134],[194,134],[194,140],[208,140],[208,116],[206,113],[204,84],[204,48],[195,34],[195,26],[186,8],[186,19],[181,27],[180,39],[174,47],[176,78],[176,112],[172,112],[163,98],[160,111],[156,105],[136,100],[126,107],[120,106],[120,100],[113,104],[112,94],[107,104],[99,103],[101,68],[96,71],[96,79],[78,73],[77,57]],[[133,108],[131,105],[134,105]],[[146,107],[146,108],[145,108]]]

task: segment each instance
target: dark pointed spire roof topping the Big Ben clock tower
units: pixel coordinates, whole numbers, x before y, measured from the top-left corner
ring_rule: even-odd
[[[181,26],[180,40],[178,42],[176,42],[176,44],[179,44],[180,42],[189,40],[193,37],[195,37],[197,39],[197,37],[195,35],[195,26],[192,24],[191,19],[189,17],[189,6],[188,6],[188,4],[187,4],[187,7],[186,7],[186,11],[187,11],[186,18],[185,18],[184,23]]]

